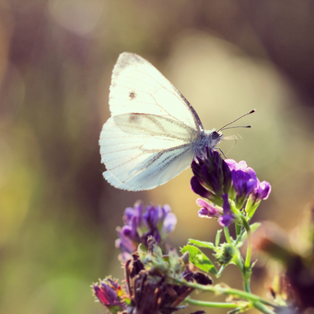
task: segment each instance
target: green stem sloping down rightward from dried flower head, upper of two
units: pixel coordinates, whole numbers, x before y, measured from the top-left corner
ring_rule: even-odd
[[[242,291],[242,290],[238,290],[238,289],[232,289],[229,287],[222,287],[220,285],[203,285],[203,284],[196,284],[196,283],[192,283],[192,282],[188,282],[186,280],[181,280],[181,279],[177,279],[177,278],[173,278],[173,280],[175,280],[177,283],[180,284],[184,284],[187,287],[191,287],[194,289],[198,289],[201,291],[206,291],[206,292],[214,292],[215,294],[225,294],[225,295],[232,295],[234,297],[238,297],[238,298],[242,298],[242,299],[246,299],[249,300],[251,302],[261,302],[263,304],[272,306],[274,308],[278,308],[281,309],[280,306],[277,306],[276,304],[273,304],[271,302],[269,302],[268,300],[265,300],[261,297],[259,297],[258,295],[253,295],[249,292],[246,291]]]

